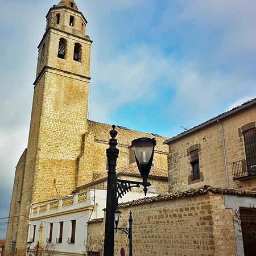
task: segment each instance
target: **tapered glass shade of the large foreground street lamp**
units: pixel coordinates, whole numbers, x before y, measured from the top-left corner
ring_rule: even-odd
[[[134,147],[135,156],[139,164],[147,164],[152,156],[155,140],[150,138],[135,139],[131,144]]]

